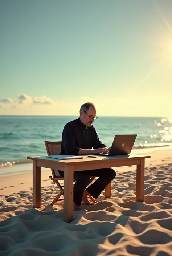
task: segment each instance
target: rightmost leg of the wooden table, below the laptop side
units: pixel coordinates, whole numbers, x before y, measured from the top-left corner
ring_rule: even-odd
[[[136,201],[144,202],[144,160],[140,159],[140,164],[137,165],[136,176]]]

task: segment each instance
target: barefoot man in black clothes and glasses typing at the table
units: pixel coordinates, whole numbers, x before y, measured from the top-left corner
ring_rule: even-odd
[[[110,148],[99,141],[98,135],[92,123],[97,118],[96,109],[93,103],[87,102],[80,108],[80,116],[67,123],[62,132],[61,155],[89,155],[92,153],[109,153]],[[93,148],[93,149],[92,149]],[[59,171],[64,176],[63,171]],[[98,176],[88,188],[89,176]],[[93,204],[89,202],[87,196],[90,194],[98,198],[108,183],[116,176],[111,168],[76,171],[74,172],[74,211],[79,211],[81,202],[84,204]]]

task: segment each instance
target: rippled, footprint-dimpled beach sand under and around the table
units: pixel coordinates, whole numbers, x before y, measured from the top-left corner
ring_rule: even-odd
[[[172,150],[148,155],[145,202],[135,202],[136,167],[118,167],[112,197],[103,191],[71,223],[62,202],[50,206],[50,170],[41,172],[41,210],[32,208],[32,173],[1,178],[0,256],[171,256]]]

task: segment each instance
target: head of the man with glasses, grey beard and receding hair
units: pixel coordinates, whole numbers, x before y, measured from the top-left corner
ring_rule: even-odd
[[[86,126],[91,126],[97,118],[96,109],[93,103],[87,102],[80,108],[80,120]]]

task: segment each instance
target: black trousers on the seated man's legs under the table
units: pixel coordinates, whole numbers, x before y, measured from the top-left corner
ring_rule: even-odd
[[[59,171],[60,175],[64,175],[63,171]],[[99,177],[89,187],[90,176]],[[76,180],[73,188],[73,201],[78,206],[81,205],[83,192],[86,191],[93,196],[98,198],[105,187],[113,180],[116,176],[116,172],[111,168],[96,169],[89,171],[74,171],[74,179]]]

